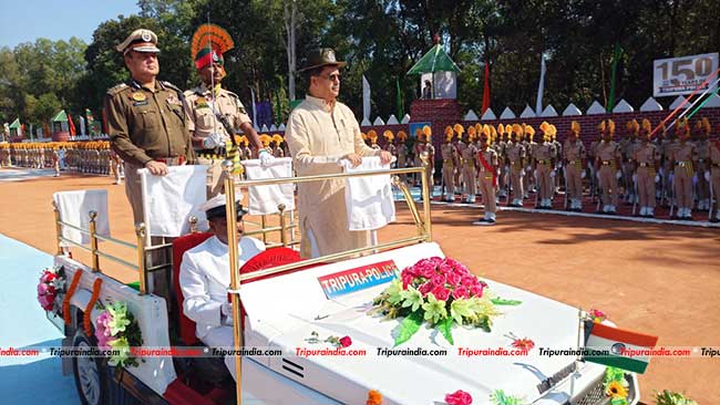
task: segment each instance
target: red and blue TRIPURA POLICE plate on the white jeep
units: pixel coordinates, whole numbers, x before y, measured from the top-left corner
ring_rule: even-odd
[[[397,271],[395,262],[387,260],[318,277],[318,282],[325,297],[332,299],[391,281]]]

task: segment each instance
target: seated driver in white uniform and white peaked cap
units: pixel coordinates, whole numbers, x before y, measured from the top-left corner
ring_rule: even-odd
[[[241,196],[239,196],[241,198]],[[227,221],[225,214],[225,195],[219,194],[207,200],[202,209],[214,235],[203,243],[183,255],[179,270],[179,285],[185,301],[185,316],[197,324],[195,335],[206,345],[213,347],[232,347],[233,311],[227,301],[230,287],[229,250],[227,248]],[[243,216],[247,212],[235,202],[237,211],[239,267],[255,255],[265,250],[265,245],[243,235]],[[240,238],[241,237],[241,238]],[[227,368],[235,375],[235,359],[225,357]]]

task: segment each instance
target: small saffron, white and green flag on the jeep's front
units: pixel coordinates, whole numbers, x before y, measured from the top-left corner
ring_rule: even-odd
[[[608,351],[609,354],[588,354],[585,360],[642,374],[650,363],[649,354],[657,342],[658,336],[593,323],[586,347]]]

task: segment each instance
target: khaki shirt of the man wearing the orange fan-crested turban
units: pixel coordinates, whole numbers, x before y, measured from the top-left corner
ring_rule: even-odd
[[[189,118],[187,128],[197,137],[204,138],[212,133],[217,133],[223,135],[224,141],[230,141],[230,134],[217,120],[215,113],[225,116],[233,128],[239,128],[240,124],[250,122],[237,94],[225,89],[220,89],[217,97],[213,100],[213,92],[202,84],[186,91],[185,100],[187,101],[185,110]]]

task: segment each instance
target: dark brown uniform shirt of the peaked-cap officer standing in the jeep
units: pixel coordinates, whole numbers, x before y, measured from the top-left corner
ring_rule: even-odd
[[[120,84],[105,94],[107,134],[123,160],[144,166],[158,158],[194,160],[183,93],[167,82],[146,89],[137,82]]]

